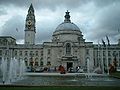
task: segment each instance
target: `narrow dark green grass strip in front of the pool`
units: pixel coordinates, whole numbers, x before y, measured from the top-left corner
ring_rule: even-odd
[[[29,86],[29,87],[16,87],[4,86],[0,90],[120,90],[120,87],[110,86]]]

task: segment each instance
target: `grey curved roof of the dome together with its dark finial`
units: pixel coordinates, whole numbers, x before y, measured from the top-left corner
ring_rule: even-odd
[[[58,25],[58,27],[56,28],[55,31],[61,31],[61,30],[75,30],[75,31],[77,30],[77,31],[80,31],[79,27],[71,22],[69,13],[70,12],[68,12],[68,11],[66,12],[64,22],[61,23],[60,25]]]

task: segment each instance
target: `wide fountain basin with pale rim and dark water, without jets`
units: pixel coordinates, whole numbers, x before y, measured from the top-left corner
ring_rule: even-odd
[[[23,80],[11,85],[26,86],[120,86],[120,79],[102,74],[87,73],[25,73]]]

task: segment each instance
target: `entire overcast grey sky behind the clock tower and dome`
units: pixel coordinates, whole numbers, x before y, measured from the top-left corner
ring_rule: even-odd
[[[24,43],[25,19],[31,3],[36,16],[36,43],[52,39],[66,10],[86,41],[106,41],[107,35],[111,43],[117,43],[120,38],[120,0],[0,0],[0,36],[12,36],[17,43]]]

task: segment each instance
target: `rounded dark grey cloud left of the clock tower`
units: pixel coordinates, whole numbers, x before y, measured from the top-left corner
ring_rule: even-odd
[[[13,38],[22,40],[24,38],[24,19],[21,16],[14,16],[9,19],[2,27],[1,35],[12,36]]]

